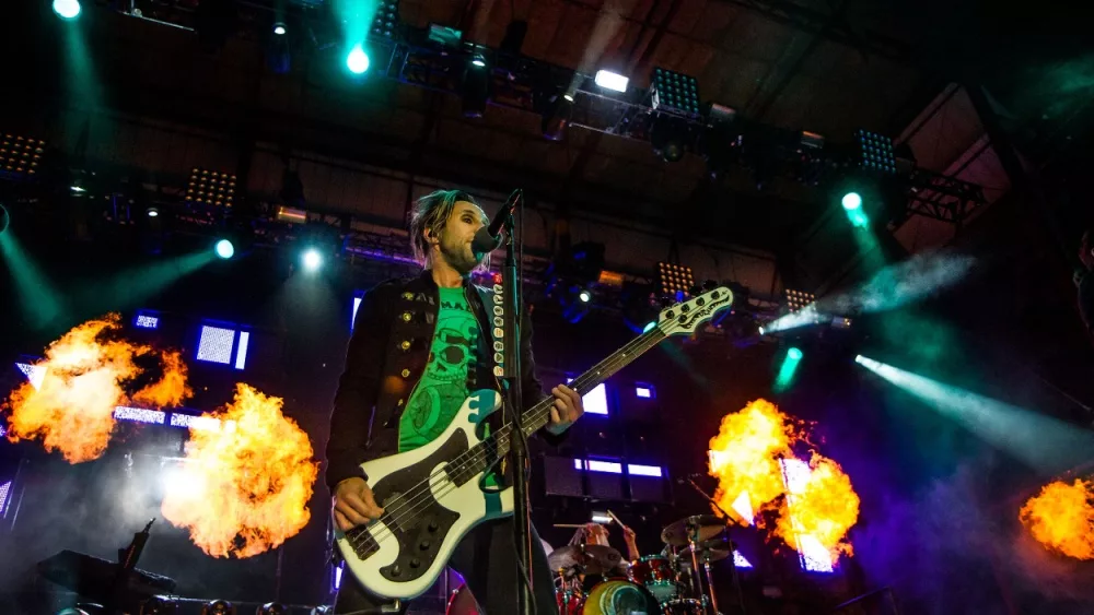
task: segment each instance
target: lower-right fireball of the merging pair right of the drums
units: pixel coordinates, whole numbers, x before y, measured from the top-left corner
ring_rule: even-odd
[[[859,520],[859,494],[835,461],[814,453],[810,469],[804,484],[788,494],[789,510],[779,517],[775,534],[799,552],[806,540],[819,543],[835,564],[841,554],[853,554],[843,539]]]

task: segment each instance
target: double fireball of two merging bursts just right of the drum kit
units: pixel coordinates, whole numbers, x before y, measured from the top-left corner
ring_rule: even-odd
[[[792,448],[800,442],[808,443],[801,424],[768,401],[726,415],[710,440],[714,499],[745,524],[759,511],[778,510],[777,536],[803,555],[819,547],[835,563],[852,553],[845,537],[858,522],[859,496],[835,461],[816,452],[811,464],[795,459]]]

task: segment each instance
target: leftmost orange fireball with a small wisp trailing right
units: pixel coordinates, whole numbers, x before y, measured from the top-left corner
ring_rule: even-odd
[[[159,352],[125,340],[102,340],[120,329],[120,317],[109,314],[72,329],[46,348],[34,367],[40,383],[23,382],[4,410],[8,439],[40,439],[46,450],[59,450],[69,463],[97,459],[114,430],[114,409],[127,403],[124,385],[140,375],[133,358],[159,353],[163,377],[132,395],[132,401],[156,406],[178,405],[193,392],[186,385],[186,365],[177,352]]]

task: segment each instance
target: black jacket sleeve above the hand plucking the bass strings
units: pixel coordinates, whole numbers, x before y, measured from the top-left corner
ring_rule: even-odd
[[[331,490],[346,478],[366,478],[361,463],[368,459],[369,430],[391,324],[389,294],[393,288],[391,284],[376,286],[364,295],[358,307],[353,335],[346,353],[346,368],[338,381],[330,413],[326,482]]]

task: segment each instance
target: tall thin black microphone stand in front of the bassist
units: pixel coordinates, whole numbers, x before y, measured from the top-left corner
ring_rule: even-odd
[[[523,194],[519,198],[523,199]],[[522,203],[523,204],[523,203]],[[513,462],[513,543],[517,554],[516,613],[532,615],[534,598],[532,593],[532,519],[528,507],[527,464],[524,424],[521,417],[523,390],[521,387],[521,272],[516,263],[516,236],[512,211],[505,220],[505,263],[502,267],[502,308],[504,310],[504,335],[502,356],[507,383],[503,403],[512,421],[509,450]],[[521,238],[523,240],[523,237]],[[546,615],[546,614],[540,614]]]

